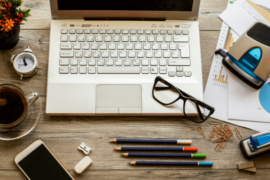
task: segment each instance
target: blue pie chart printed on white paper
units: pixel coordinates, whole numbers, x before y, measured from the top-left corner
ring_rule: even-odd
[[[259,100],[264,110],[270,113],[270,82],[261,88]]]

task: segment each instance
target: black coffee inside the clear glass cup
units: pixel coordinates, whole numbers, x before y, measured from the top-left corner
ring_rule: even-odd
[[[25,110],[26,99],[16,89],[2,88],[0,99],[5,99],[5,105],[0,106],[0,124],[10,124],[18,120]]]

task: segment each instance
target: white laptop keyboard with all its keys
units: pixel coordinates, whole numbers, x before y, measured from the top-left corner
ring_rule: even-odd
[[[61,29],[60,41],[61,74],[191,76],[188,30]]]

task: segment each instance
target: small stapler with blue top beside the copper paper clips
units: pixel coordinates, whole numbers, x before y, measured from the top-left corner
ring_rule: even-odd
[[[247,159],[270,152],[270,130],[243,139],[240,141],[240,147]]]

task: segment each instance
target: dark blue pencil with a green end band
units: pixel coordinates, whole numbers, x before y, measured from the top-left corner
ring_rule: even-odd
[[[122,156],[205,158],[206,154],[125,153]]]

